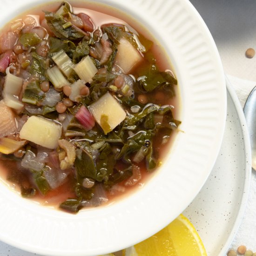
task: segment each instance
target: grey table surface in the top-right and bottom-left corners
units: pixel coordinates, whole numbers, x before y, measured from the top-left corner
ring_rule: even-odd
[[[208,26],[218,48],[224,72],[256,81],[256,56],[245,57],[247,48],[256,49],[256,0],[191,0]],[[0,242],[0,256],[34,256]]]

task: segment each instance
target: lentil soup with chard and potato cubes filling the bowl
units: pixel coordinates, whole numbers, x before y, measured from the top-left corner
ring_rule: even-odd
[[[180,124],[177,81],[148,38],[67,2],[7,24],[0,163],[23,197],[76,213],[127,195],[161,165]]]

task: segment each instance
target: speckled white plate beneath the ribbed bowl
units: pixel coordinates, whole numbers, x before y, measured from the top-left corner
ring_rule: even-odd
[[[195,200],[184,211],[208,256],[226,255],[243,217],[251,176],[249,135],[236,92],[227,80],[228,108],[222,147]]]

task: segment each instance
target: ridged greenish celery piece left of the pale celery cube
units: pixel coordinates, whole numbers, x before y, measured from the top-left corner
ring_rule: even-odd
[[[52,59],[67,77],[74,74],[74,64],[62,49],[57,54],[54,54]]]

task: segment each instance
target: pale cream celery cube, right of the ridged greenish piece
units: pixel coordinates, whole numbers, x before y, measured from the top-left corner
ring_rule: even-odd
[[[83,81],[85,81],[85,83],[91,83],[94,75],[98,72],[98,69],[88,55],[74,66],[74,71]]]

